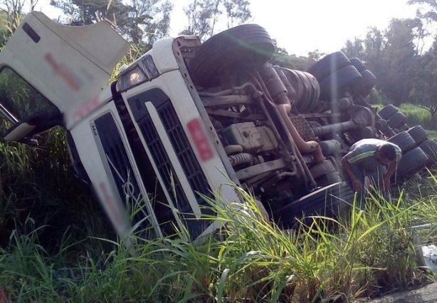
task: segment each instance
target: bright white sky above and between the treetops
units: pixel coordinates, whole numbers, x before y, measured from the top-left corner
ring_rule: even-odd
[[[251,23],[263,26],[288,53],[307,56],[339,51],[347,39],[364,38],[371,26],[386,29],[393,18],[413,18],[416,6],[407,0],[251,0]],[[184,7],[191,0],[174,0],[170,36],[187,23]],[[39,0],[36,10],[51,18],[62,12],[50,0]],[[224,28],[223,28],[224,29]]]

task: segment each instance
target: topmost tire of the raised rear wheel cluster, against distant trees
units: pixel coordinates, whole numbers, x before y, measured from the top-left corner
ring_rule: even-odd
[[[317,61],[308,69],[308,72],[315,76],[318,81],[322,81],[327,76],[330,76],[331,73],[349,65],[350,61],[347,56],[341,51],[337,51]]]

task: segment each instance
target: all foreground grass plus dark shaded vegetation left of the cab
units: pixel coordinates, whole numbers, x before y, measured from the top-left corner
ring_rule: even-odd
[[[61,130],[38,148],[0,144],[0,157],[0,289],[12,302],[346,302],[434,278],[416,264],[411,229],[437,225],[433,178],[294,230],[265,221],[246,192],[245,205],[216,197],[221,235],[137,239],[131,255],[75,179]]]

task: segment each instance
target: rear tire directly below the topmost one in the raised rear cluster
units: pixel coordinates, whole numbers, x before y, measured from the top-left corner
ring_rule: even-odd
[[[356,86],[361,78],[354,66],[339,69],[320,83],[320,98],[325,101],[338,99],[348,87]]]

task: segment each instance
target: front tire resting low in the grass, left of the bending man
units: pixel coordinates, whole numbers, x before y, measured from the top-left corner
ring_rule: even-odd
[[[273,218],[280,226],[291,228],[302,215],[337,217],[349,209],[354,192],[346,183],[335,183],[305,195],[273,212]]]

